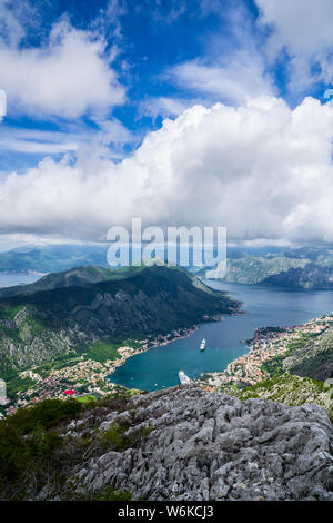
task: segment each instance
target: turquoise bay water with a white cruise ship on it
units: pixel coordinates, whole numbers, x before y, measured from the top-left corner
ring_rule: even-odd
[[[230,362],[248,352],[241,339],[251,338],[258,327],[296,325],[333,310],[333,292],[209,284],[243,302],[242,308],[248,314],[203,324],[188,338],[138,354],[118,367],[110,382],[155,391],[178,385],[180,369],[192,378],[203,372],[224,371]],[[199,351],[202,338],[206,339],[204,352]]]

